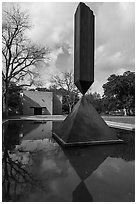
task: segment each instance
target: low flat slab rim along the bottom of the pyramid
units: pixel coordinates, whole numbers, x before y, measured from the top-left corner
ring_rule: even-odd
[[[123,144],[124,140],[97,140],[97,141],[88,141],[88,142],[65,142],[61,139],[56,133],[53,133],[53,138],[62,146],[62,147],[80,147],[80,146],[92,146],[92,145],[104,145],[104,144]]]

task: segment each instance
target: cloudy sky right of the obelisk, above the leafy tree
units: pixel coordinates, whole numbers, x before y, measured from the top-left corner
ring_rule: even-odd
[[[110,74],[134,70],[134,3],[103,3],[98,7],[95,53],[95,82],[100,81],[100,88]]]

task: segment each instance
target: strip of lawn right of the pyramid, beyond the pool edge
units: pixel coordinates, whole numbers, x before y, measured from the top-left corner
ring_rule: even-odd
[[[135,124],[135,116],[102,116],[106,121]]]

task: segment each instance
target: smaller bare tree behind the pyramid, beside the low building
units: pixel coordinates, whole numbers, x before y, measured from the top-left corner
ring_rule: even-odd
[[[79,91],[74,84],[74,75],[72,72],[64,72],[62,75],[53,75],[50,79],[51,89],[60,89],[64,101],[71,112],[74,104],[78,100]]]

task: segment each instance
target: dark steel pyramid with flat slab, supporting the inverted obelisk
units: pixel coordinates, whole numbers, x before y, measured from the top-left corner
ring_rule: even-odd
[[[53,133],[64,147],[123,143],[83,96]]]

